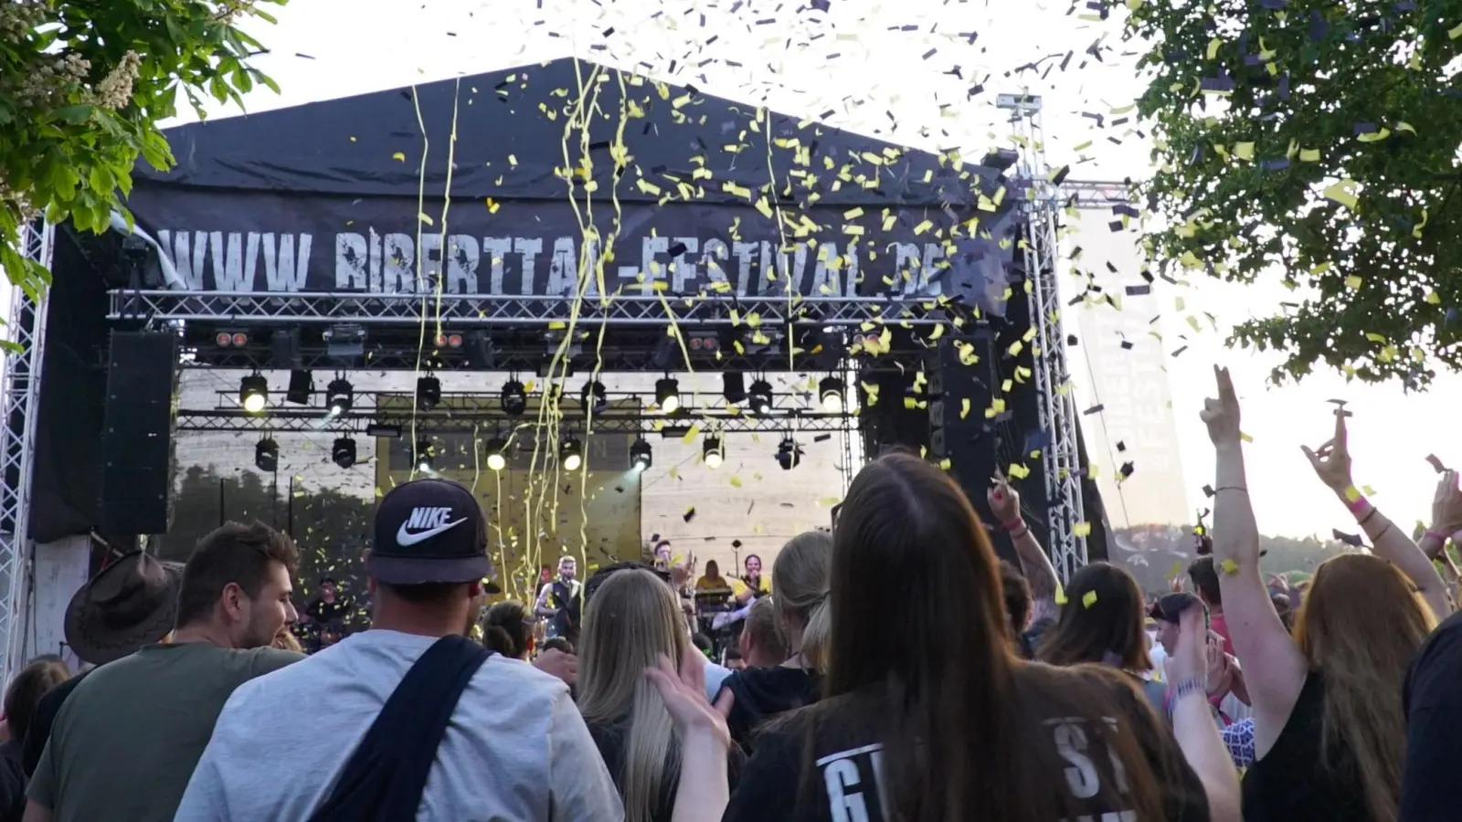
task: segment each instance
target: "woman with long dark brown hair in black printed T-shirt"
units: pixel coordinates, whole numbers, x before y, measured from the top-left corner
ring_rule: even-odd
[[[854,480],[829,607],[823,699],[757,737],[727,821],[1237,821],[1202,689],[1175,698],[1189,768],[1129,677],[1016,658],[990,538],[933,465],[893,453]],[[1184,682],[1203,670],[1194,638]]]

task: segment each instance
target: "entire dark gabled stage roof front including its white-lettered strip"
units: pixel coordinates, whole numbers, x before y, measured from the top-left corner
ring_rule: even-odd
[[[953,152],[575,59],[167,136],[177,165],[139,164],[127,205],[175,285],[205,291],[557,295],[582,271],[608,294],[958,294],[1000,313],[1022,196]]]

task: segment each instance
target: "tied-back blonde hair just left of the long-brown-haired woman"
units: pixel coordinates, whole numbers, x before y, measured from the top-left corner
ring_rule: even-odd
[[[827,608],[827,576],[832,570],[832,534],[807,531],[792,537],[776,554],[772,568],[772,603],[776,627],[788,652],[800,652],[814,670],[826,667],[832,619]]]

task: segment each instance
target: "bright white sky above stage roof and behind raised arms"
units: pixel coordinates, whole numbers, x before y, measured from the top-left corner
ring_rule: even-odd
[[[1110,123],[1111,110],[1130,104],[1140,91],[1135,60],[1121,57],[1126,44],[1114,22],[1067,15],[1061,0],[832,0],[829,15],[798,13],[798,4],[292,0],[278,10],[278,26],[251,26],[272,51],[256,66],[282,86],[282,94],[262,91],[247,102],[260,111],[577,54],[662,80],[692,82],[709,94],[766,102],[788,114],[817,117],[830,110],[826,121],[832,126],[925,149],[959,146],[978,159],[988,148],[1009,145],[994,95],[1025,86],[1045,98],[1051,165],[1073,162],[1072,177],[1088,180],[1146,174],[1146,146],[1130,123],[1096,130],[1094,120],[1082,117],[1083,111],[1104,114]],[[893,31],[901,26],[917,31]],[[968,32],[978,32],[974,44]],[[1102,53],[1102,61],[1083,56],[1099,38],[1113,51]],[[934,54],[928,56],[930,50]],[[1050,63],[1058,64],[1067,50],[1076,53],[1067,69],[1051,70],[1045,82],[1032,72],[1006,76],[1045,56],[1056,56]],[[959,76],[949,73],[956,67]],[[984,83],[984,92],[969,98],[977,82]],[[1073,152],[1086,140],[1095,142],[1082,155]],[[1082,158],[1086,161],[1076,162]],[[1096,222],[1105,231],[1104,221]],[[1194,335],[1184,316],[1211,312],[1222,329],[1269,313],[1281,298],[1278,290],[1216,282],[1183,290],[1158,285],[1155,301],[1165,307],[1159,325],[1164,348],[1189,345],[1181,357],[1168,357],[1167,367],[1183,467],[1183,477],[1171,481],[1187,487],[1190,508],[1203,505],[1199,489],[1212,481],[1212,450],[1197,410],[1212,392],[1212,364],[1222,361],[1232,369],[1244,430],[1253,437],[1250,489],[1263,531],[1327,535],[1332,527],[1354,529],[1300,453],[1301,443],[1319,445],[1329,436],[1329,398],[1348,399],[1355,412],[1357,484],[1373,486],[1374,500],[1398,522],[1428,516],[1434,474],[1423,458],[1434,452],[1462,464],[1462,433],[1449,424],[1455,412],[1446,405],[1462,386],[1455,376],[1421,396],[1406,396],[1392,385],[1347,385],[1327,372],[1301,386],[1270,388],[1266,379],[1278,358],[1227,351],[1222,333]],[[1184,313],[1173,310],[1177,297],[1187,304]],[[1187,339],[1177,339],[1178,333]],[[1085,364],[1073,363],[1072,372],[1080,383]],[[1085,392],[1086,386],[1079,388]],[[1083,418],[1085,424],[1092,421]],[[1143,465],[1136,470],[1143,472]]]

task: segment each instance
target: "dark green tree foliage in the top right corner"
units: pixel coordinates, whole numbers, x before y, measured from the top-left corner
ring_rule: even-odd
[[[1462,366],[1462,0],[1123,4],[1164,274],[1294,290],[1234,332],[1276,380]]]

